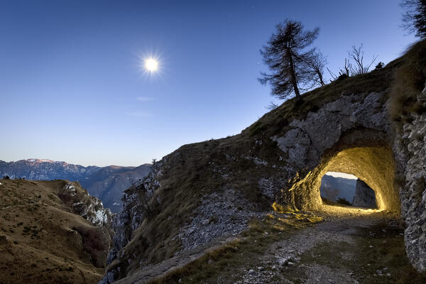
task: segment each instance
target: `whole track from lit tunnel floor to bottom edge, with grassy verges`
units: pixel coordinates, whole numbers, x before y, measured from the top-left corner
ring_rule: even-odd
[[[324,217],[324,222],[283,233],[278,241],[256,252],[244,251],[241,246],[234,254],[209,259],[165,283],[426,283],[425,275],[416,273],[405,257],[398,218],[353,207],[325,207],[315,214]],[[216,246],[221,244],[224,240]],[[144,268],[117,283],[148,283],[191,265],[205,249]],[[211,273],[208,266],[217,269]],[[206,269],[209,273],[202,274]]]

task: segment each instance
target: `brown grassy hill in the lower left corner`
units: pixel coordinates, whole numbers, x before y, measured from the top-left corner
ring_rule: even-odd
[[[104,269],[92,265],[72,230],[91,225],[58,198],[65,181],[0,182],[0,283],[97,283],[102,278]]]

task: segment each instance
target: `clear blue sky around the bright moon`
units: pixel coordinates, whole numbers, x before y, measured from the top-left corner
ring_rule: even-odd
[[[0,160],[140,165],[237,134],[273,100],[257,78],[275,24],[320,27],[331,70],[360,43],[388,63],[415,41],[398,2],[1,1]]]

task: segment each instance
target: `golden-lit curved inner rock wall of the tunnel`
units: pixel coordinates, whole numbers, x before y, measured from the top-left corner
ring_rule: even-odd
[[[365,144],[364,144],[365,145]],[[400,200],[395,190],[395,160],[392,149],[375,143],[374,146],[348,146],[338,144],[324,153],[320,164],[292,183],[287,201],[293,200],[295,209],[324,209],[327,204],[320,194],[321,180],[327,172],[339,172],[355,175],[371,187],[376,199],[376,209],[400,214]],[[378,146],[376,146],[378,145]],[[290,196],[289,196],[290,195]]]

